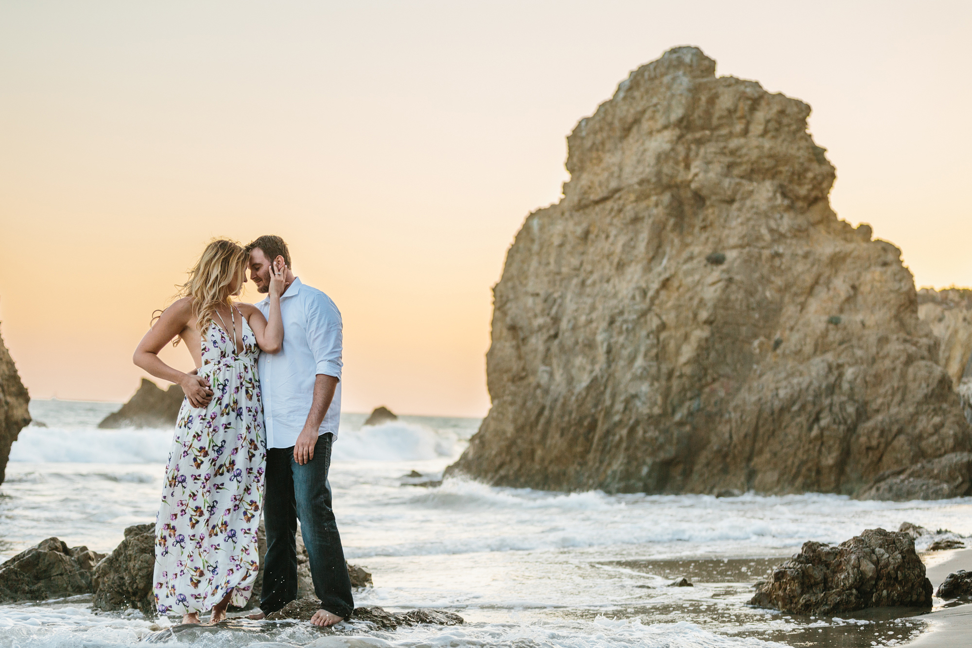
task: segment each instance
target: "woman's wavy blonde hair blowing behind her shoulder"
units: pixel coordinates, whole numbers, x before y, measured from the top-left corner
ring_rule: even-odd
[[[189,281],[179,287],[175,299],[191,297],[192,315],[200,334],[213,321],[218,306],[232,307],[229,297],[242,285],[246,260],[246,252],[236,241],[213,239],[189,271]],[[161,314],[156,313],[153,324]],[[178,344],[176,337],[173,346]]]

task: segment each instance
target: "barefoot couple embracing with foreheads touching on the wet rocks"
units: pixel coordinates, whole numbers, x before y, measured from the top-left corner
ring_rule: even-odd
[[[268,293],[258,304],[232,299],[247,269]],[[246,248],[213,241],[180,296],[134,356],[186,392],[156,519],[156,608],[182,614],[183,623],[212,610],[217,623],[230,604],[245,605],[260,569],[262,513],[262,612],[251,618],[296,597],[299,519],[321,600],[311,621],[336,624],[354,609],[328,482],[341,406],[341,315],[328,295],[294,276],[279,236]],[[191,373],[158,358],[173,340],[189,348]]]

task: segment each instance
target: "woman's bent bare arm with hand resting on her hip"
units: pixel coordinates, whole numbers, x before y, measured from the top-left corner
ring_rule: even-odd
[[[156,378],[181,386],[183,392],[186,392],[189,397],[192,407],[205,407],[213,397],[213,391],[209,389],[206,379],[183,373],[158,358],[158,352],[190,325],[191,317],[191,298],[183,297],[176,301],[165,309],[156,324],[138,343],[131,359],[136,366],[145,369]]]

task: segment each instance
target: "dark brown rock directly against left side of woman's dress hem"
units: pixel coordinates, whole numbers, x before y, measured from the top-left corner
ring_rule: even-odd
[[[91,607],[104,611],[134,607],[147,617],[156,616],[156,598],[152,594],[155,567],[156,526],[124,529],[121,544],[94,567]]]

